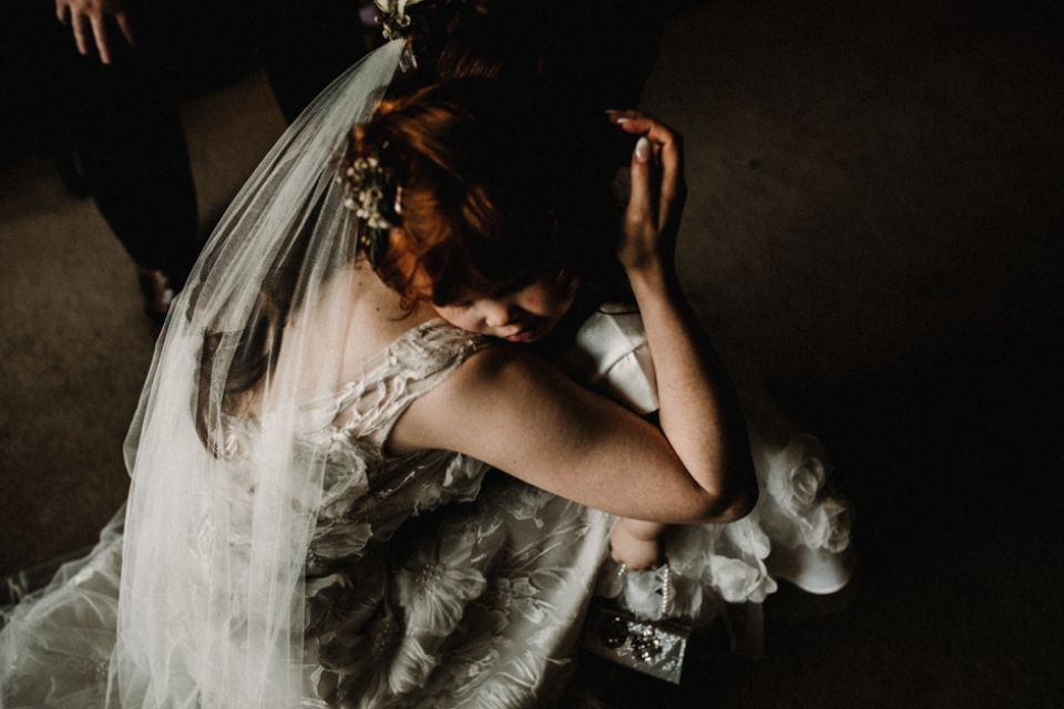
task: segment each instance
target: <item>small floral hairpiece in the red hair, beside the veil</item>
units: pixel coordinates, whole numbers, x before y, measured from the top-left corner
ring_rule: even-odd
[[[344,206],[361,222],[358,226],[358,243],[365,249],[369,266],[377,270],[381,255],[388,249],[391,227],[399,226],[396,217],[402,212],[402,186],[395,184],[396,171],[382,167],[378,153],[356,157],[347,163],[340,179],[347,183],[349,194]],[[386,198],[395,193],[395,204],[389,209]]]

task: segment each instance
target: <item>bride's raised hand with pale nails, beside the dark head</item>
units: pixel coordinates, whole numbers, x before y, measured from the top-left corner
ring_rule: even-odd
[[[632,153],[632,195],[622,223],[617,259],[630,275],[662,266],[672,268],[687,196],[681,137],[638,111],[618,111],[610,120],[640,136]]]

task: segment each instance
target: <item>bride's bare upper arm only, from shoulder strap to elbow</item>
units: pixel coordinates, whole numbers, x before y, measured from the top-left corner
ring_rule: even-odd
[[[426,448],[626,517],[725,522],[747,511],[738,496],[703,487],[658,429],[516,346],[474,354],[410,404],[389,452]]]

